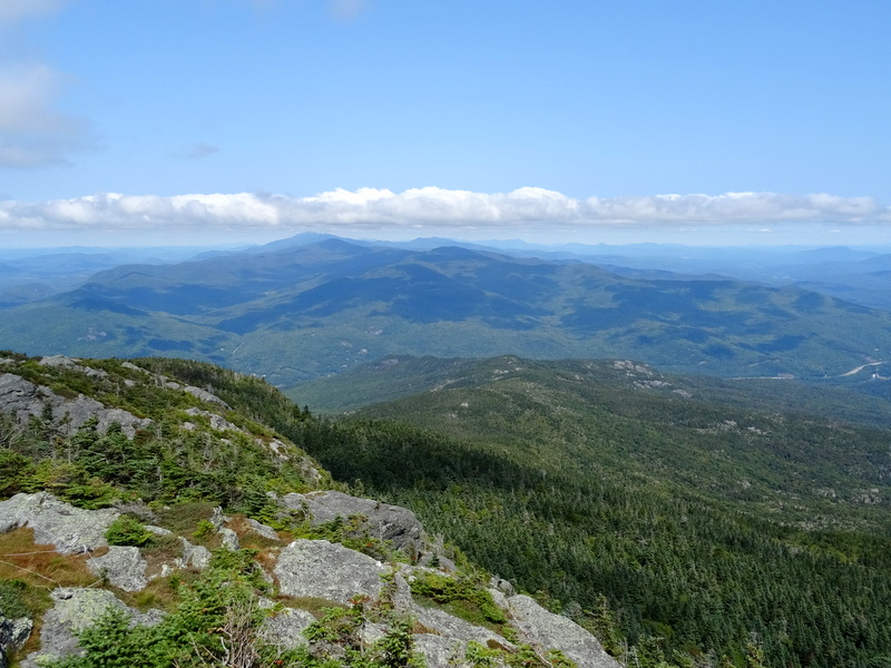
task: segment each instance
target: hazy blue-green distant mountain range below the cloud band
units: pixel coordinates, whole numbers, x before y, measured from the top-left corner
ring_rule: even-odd
[[[888,312],[794,286],[694,275],[707,265],[698,250],[695,262],[657,272],[644,266],[655,263],[652,249],[631,266],[625,247],[625,266],[607,269],[577,253],[540,258],[448,243],[302,235],[176,264],[116,266],[4,310],[0,345],[192,357],[280,386],[393,354],[627,357],[664,371],[812,379],[891,356]],[[881,272],[887,262],[851,249],[781,255],[787,265],[795,255],[802,274],[825,263]],[[665,271],[683,262],[691,271]],[[859,276],[879,281],[877,272]]]

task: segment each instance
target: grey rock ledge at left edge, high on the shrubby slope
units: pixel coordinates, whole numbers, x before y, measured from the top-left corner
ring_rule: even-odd
[[[42,418],[48,413],[63,432],[74,434],[87,420],[96,419],[96,429],[105,433],[112,422],[120,424],[127,436],[133,438],[137,429],[145,429],[151,420],[137,418],[121,409],[106,409],[95,399],[78,395],[68,399],[49,387],[35,385],[13,373],[0,374],[0,413],[16,415],[20,422],[30,418]]]

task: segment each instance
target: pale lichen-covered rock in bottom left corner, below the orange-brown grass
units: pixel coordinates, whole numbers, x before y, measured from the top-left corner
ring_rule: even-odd
[[[74,631],[92,625],[110,606],[126,610],[134,623],[138,625],[150,626],[163,617],[158,610],[144,613],[129,608],[105,589],[59,588],[50,596],[55,605],[43,616],[40,649],[26,657],[21,662],[22,668],[39,668],[46,661],[77,654],[79,650]]]

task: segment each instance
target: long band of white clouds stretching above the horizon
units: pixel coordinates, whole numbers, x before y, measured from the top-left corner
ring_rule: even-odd
[[[312,197],[101,194],[43,203],[0,202],[4,230],[579,230],[825,224],[891,226],[891,207],[869,197],[727,193],[576,199],[542,188],[473,193],[435,187],[403,193],[336,189]]]

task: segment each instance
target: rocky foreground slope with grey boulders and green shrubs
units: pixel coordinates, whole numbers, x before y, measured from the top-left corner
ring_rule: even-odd
[[[0,355],[3,667],[618,668],[411,511],[326,489],[263,418],[317,421],[263,381],[137,362]]]

